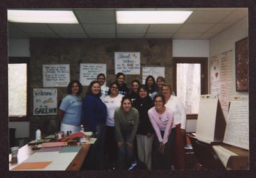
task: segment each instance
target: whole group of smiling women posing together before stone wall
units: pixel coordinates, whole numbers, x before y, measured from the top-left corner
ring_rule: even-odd
[[[127,169],[135,159],[148,170],[171,169],[172,165],[184,169],[186,113],[182,101],[173,96],[163,77],[148,76],[143,85],[133,80],[131,92],[124,80],[124,73],[118,73],[108,88],[100,73],[83,101],[79,96],[82,85],[77,80],[70,82],[58,112],[61,131],[77,132],[83,124],[95,133],[97,141],[86,158],[93,169],[106,168],[106,157],[108,169],[113,165]]]

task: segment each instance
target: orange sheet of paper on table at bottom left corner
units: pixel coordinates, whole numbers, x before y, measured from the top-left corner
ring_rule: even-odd
[[[51,163],[52,161],[21,163],[20,165],[17,165],[17,167],[13,168],[12,170],[44,169]]]

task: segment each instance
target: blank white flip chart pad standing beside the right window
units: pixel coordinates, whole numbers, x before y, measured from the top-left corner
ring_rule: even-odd
[[[217,107],[218,95],[206,94],[200,96],[196,137],[214,142]]]

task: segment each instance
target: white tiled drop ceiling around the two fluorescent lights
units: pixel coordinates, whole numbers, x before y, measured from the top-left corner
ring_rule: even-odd
[[[248,8],[97,8],[65,10],[72,10],[79,24],[8,22],[8,38],[172,38],[209,40],[239,20],[248,18]],[[116,10],[192,10],[193,13],[184,24],[116,24]]]

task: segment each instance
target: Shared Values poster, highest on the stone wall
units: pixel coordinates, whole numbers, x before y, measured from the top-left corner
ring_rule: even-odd
[[[115,74],[140,74],[140,52],[115,52]]]

